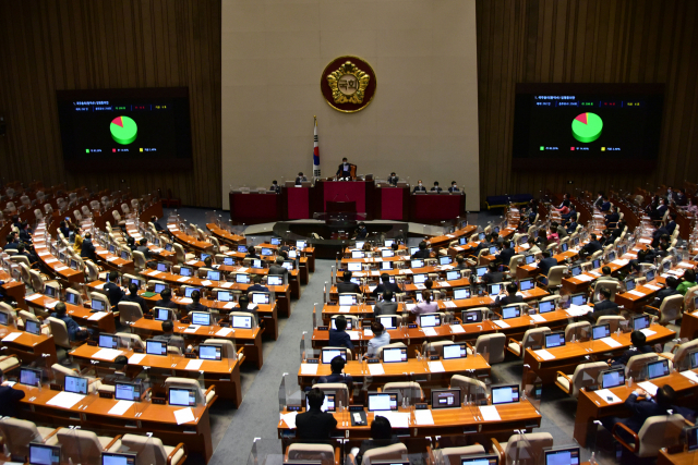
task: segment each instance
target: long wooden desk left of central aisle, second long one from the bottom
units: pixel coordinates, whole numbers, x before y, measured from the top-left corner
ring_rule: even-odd
[[[83,368],[92,367],[95,363],[113,363],[116,357],[111,360],[95,358],[94,355],[100,350],[101,347],[83,344],[71,351],[70,355],[76,359]],[[129,366],[141,367],[142,369],[148,367],[151,376],[163,379],[163,381],[171,376],[180,378],[198,378],[198,375],[203,371],[205,389],[215,384],[217,396],[232,401],[236,408],[238,408],[242,403],[242,391],[240,389],[240,364],[244,362],[244,356],[242,356],[241,359],[236,360],[228,358],[224,358],[221,360],[203,360],[201,367],[190,369],[188,368],[188,365],[191,360],[195,360],[195,358],[186,358],[181,355],[171,354],[145,355],[145,357],[140,362],[135,363],[132,355],[140,354],[135,354],[132,350],[122,348],[120,355],[124,355],[129,358]]]

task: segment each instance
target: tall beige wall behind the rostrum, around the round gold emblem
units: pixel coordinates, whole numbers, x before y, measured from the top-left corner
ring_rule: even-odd
[[[371,105],[332,109],[324,68],[353,54],[376,73]],[[229,186],[267,186],[342,157],[359,173],[392,170],[428,185],[464,185],[479,209],[474,0],[222,0],[222,204]]]

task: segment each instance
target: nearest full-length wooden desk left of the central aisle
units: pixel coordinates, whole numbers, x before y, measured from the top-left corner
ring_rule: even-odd
[[[181,409],[180,406],[134,402],[123,415],[119,416],[109,414],[119,401],[99,397],[98,394],[86,395],[71,408],[63,408],[47,404],[58,394],[48,387],[38,390],[17,383],[14,384],[14,389],[26,393],[20,401],[21,418],[55,426],[81,426],[87,430],[109,430],[113,435],[153,432],[168,445],[184,442],[190,451],[204,455],[206,462],[213,455],[210,420],[206,405],[192,408],[194,421],[177,425],[174,412]]]

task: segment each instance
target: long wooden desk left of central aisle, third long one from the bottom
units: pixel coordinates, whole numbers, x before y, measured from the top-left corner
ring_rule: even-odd
[[[236,350],[244,347],[245,360],[255,362],[257,369],[262,368],[264,357],[262,353],[262,328],[254,330],[250,329],[236,329],[234,332],[230,332],[227,335],[218,335],[217,332],[224,328],[218,325],[213,326],[200,326],[195,332],[186,332],[185,329],[189,325],[184,325],[179,321],[174,321],[174,334],[181,335],[186,339],[202,340],[202,339],[227,339],[236,343]],[[163,322],[157,320],[147,320],[141,318],[131,326],[131,330],[136,334],[145,334],[151,336],[152,334],[163,333]]]

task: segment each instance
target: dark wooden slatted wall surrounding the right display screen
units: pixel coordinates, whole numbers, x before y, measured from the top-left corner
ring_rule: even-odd
[[[480,195],[698,180],[698,2],[477,0]],[[516,83],[664,83],[657,170],[512,171]],[[567,184],[573,181],[574,184]]]

